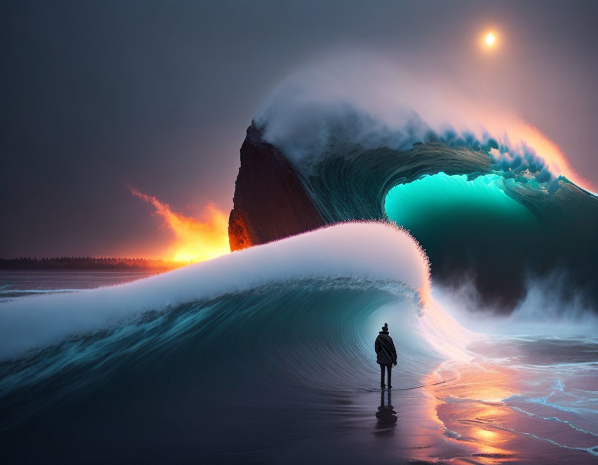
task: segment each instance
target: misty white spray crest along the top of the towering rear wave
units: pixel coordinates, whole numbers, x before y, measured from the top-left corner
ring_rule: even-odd
[[[484,145],[498,143],[488,154],[506,172],[533,174],[539,182],[563,175],[592,190],[537,129],[502,102],[456,85],[414,75],[383,57],[337,54],[289,75],[255,120],[298,166],[319,160],[332,143],[404,150],[430,133],[447,142],[473,136]]]

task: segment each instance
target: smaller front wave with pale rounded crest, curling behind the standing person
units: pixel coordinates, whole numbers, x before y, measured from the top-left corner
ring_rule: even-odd
[[[5,303],[3,450],[22,462],[89,462],[100,441],[112,446],[98,450],[98,462],[144,462],[147,453],[246,459],[239,450],[248,444],[273,447],[251,424],[274,434],[276,405],[307,422],[329,393],[375,385],[372,334],[381,321],[395,330],[405,370],[396,388],[421,385],[446,356],[469,358],[476,336],[428,291],[428,262],[410,235],[354,223],[121,286]],[[244,412],[235,447],[221,405]],[[193,435],[198,428],[214,435],[209,451],[197,450],[208,441]],[[73,437],[67,459],[60,450]]]

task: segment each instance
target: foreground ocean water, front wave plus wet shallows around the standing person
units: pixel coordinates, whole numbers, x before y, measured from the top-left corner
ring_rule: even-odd
[[[404,231],[343,224],[2,302],[3,462],[595,463],[598,341],[469,331],[426,269]]]

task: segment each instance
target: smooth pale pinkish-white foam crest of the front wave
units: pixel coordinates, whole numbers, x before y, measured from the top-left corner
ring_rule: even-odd
[[[395,280],[428,289],[428,260],[404,230],[338,224],[119,286],[0,304],[0,358],[60,342],[145,311],[305,277]]]

